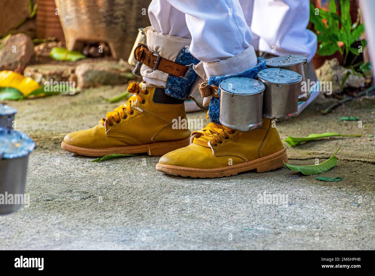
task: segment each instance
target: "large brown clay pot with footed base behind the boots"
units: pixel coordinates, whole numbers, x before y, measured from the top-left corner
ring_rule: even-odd
[[[150,26],[150,0],[55,0],[68,50],[107,42],[112,56],[127,59],[139,27]],[[143,10],[144,9],[144,10]]]

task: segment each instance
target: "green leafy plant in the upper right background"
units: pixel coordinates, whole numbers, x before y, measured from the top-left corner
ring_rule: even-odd
[[[352,24],[349,0],[340,0],[341,16],[336,14],[335,0],[330,0],[329,6],[330,10],[324,11],[310,4],[310,21],[314,23],[318,42],[320,42],[317,53],[321,56],[331,56],[339,51],[342,56],[341,65],[345,66],[349,53],[354,54],[354,56],[360,55],[359,48],[353,47],[353,43],[365,32],[365,26],[360,24],[359,9],[357,21]],[[360,44],[363,50],[367,45],[366,39],[362,39]],[[371,64],[369,62],[360,62],[354,65],[352,63],[348,66],[351,71],[344,77],[341,90],[351,74],[371,75]]]

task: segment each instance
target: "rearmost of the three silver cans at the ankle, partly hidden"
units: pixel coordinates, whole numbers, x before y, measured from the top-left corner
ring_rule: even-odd
[[[304,81],[308,83],[308,63],[307,58],[304,56],[290,55],[273,57],[271,59],[267,59],[266,66],[267,68],[281,68],[297,72],[298,74],[302,75],[301,84],[303,84]],[[302,91],[302,86],[300,88],[298,100],[300,102],[309,100],[310,90]]]

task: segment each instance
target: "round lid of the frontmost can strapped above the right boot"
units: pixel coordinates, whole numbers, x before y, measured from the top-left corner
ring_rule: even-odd
[[[266,87],[261,81],[253,78],[232,77],[223,80],[219,88],[234,95],[253,95],[263,92]]]

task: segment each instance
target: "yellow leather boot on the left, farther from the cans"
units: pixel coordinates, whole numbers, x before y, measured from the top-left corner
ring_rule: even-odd
[[[173,119],[186,119],[184,101],[166,95],[163,88],[141,86],[129,84],[127,90],[134,95],[126,104],[108,112],[95,127],[66,135],[62,148],[102,157],[113,153],[163,155],[189,145],[190,130],[172,127]]]

